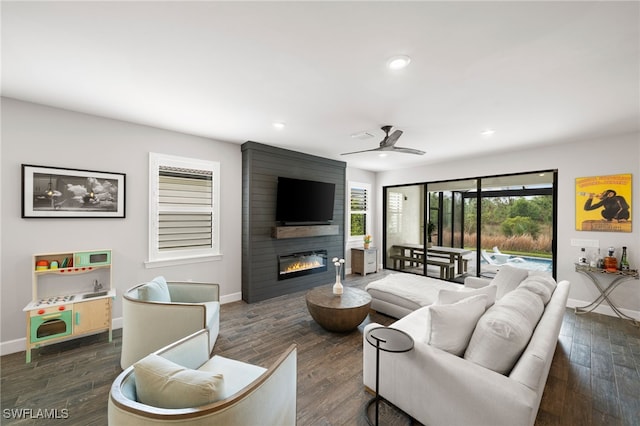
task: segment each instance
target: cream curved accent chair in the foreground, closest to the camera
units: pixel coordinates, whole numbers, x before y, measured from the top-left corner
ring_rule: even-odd
[[[207,330],[200,330],[155,352],[190,369],[221,373],[222,399],[193,408],[157,408],[136,400],[134,366],[124,370],[111,385],[108,424],[145,425],[295,425],[296,345],[268,369],[218,355],[209,358]]]

